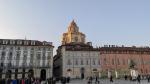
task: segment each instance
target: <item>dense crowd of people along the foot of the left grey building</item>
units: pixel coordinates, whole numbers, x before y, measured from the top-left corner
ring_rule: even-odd
[[[0,84],[56,84],[55,78],[41,80],[39,78],[0,79]]]

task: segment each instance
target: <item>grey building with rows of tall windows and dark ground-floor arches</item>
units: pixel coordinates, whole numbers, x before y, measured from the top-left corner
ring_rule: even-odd
[[[0,78],[52,77],[52,42],[0,39]]]

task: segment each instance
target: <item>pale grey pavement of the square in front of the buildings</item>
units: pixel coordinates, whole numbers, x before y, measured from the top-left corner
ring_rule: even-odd
[[[56,84],[61,84],[60,82],[56,83]],[[66,84],[87,84],[87,80],[72,80],[70,83],[66,83]],[[93,80],[92,84],[96,84]],[[99,84],[139,84],[137,81],[125,81],[125,80],[114,80],[114,82],[110,82],[107,79],[101,79]],[[140,84],[150,84],[150,82],[148,83],[147,80],[141,80]]]

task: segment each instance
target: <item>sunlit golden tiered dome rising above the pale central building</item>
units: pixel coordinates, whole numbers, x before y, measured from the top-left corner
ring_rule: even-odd
[[[79,32],[79,27],[74,20],[69,24],[68,31],[63,33],[62,44],[85,43],[85,34]]]

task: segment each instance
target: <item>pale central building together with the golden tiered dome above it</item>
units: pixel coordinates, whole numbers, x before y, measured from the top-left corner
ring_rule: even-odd
[[[85,35],[79,32],[74,21],[63,34],[62,45],[54,56],[54,76],[87,78],[100,76],[100,52],[92,43],[85,43]]]

